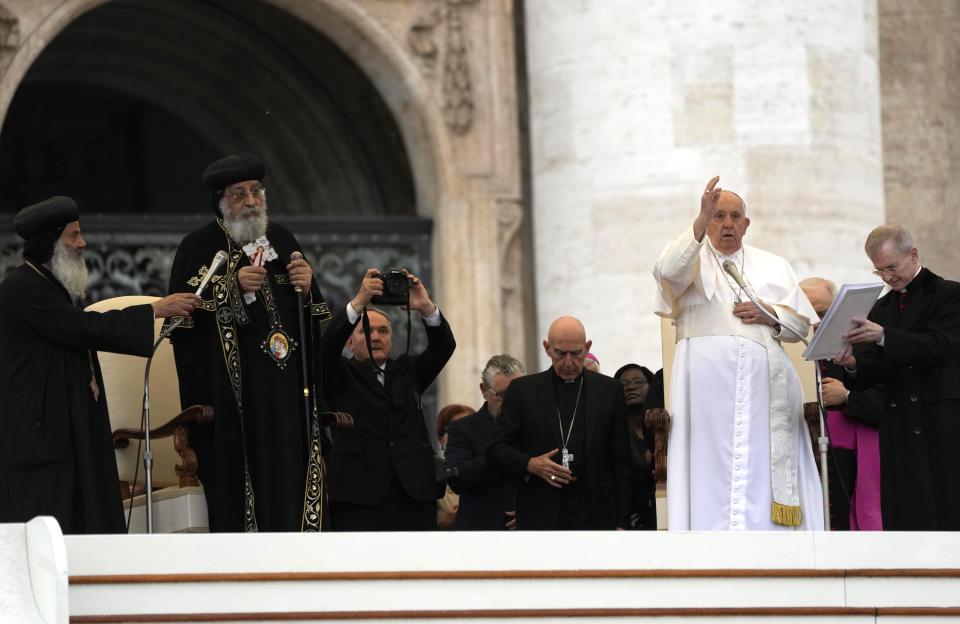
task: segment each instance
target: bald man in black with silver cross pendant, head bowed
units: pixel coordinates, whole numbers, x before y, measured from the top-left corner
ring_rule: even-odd
[[[487,449],[495,469],[522,479],[517,528],[625,528],[630,516],[630,451],[623,390],[584,370],[583,324],[555,320],[543,348],[552,366],[510,384]]]

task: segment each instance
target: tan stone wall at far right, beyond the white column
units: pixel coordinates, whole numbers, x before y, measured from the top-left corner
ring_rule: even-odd
[[[911,231],[924,265],[958,279],[960,7],[879,4],[887,220]]]

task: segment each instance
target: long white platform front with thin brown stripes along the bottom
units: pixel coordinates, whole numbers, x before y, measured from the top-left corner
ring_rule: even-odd
[[[960,535],[946,533],[235,534],[66,542],[74,622],[960,618]]]

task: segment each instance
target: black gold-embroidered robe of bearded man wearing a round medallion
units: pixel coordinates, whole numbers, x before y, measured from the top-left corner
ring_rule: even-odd
[[[300,246],[288,230],[275,224],[267,228],[267,238],[279,257],[266,263],[269,291],[261,288],[252,304],[244,302],[236,279],[237,270],[250,262],[218,220],[183,239],[170,275],[171,293],[193,292],[217,250],[229,256],[193,318],[171,336],[181,404],[212,405],[214,410],[213,424],[190,429],[211,531],[319,530],[325,512],[313,384],[318,373],[312,369],[317,365],[313,358],[319,352],[321,326],[330,312],[314,283],[303,309],[313,414],[308,462],[301,377],[304,345],[297,296],[286,269],[290,254]],[[283,368],[263,349],[274,330],[271,307],[290,344],[296,343]]]

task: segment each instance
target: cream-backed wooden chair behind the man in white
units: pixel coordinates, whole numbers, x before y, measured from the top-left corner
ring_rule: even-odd
[[[812,330],[811,330],[812,331]],[[660,350],[663,357],[663,403],[666,409],[649,409],[644,418],[647,426],[653,430],[654,436],[654,476],[657,488],[657,530],[667,528],[667,439],[670,432],[670,381],[673,373],[673,356],[677,344],[677,331],[670,319],[660,319]],[[803,359],[804,344],[802,342],[784,343],[784,350],[790,356],[800,385],[803,389],[803,417],[813,442],[814,456],[817,467],[820,467],[820,456],[817,450],[817,437],[820,430],[819,413],[817,411],[817,384],[816,370],[813,362]]]

